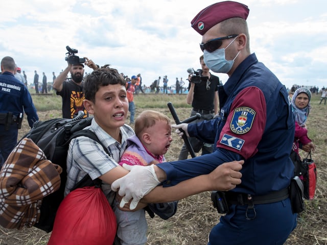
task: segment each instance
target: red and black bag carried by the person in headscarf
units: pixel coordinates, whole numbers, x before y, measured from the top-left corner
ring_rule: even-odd
[[[311,158],[311,152],[309,152],[307,158],[302,160],[302,163],[307,168],[307,173],[303,175],[305,199],[313,200],[316,192],[317,169],[315,162]]]

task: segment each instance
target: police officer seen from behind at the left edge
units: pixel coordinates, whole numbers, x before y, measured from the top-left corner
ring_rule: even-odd
[[[6,56],[1,61],[0,75],[0,167],[17,143],[24,111],[32,128],[39,119],[32,97],[25,84],[15,77],[16,65],[13,58]]]

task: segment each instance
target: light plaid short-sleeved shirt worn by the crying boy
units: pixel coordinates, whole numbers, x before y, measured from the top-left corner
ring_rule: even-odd
[[[119,159],[127,147],[127,138],[134,135],[134,131],[128,125],[120,128],[122,143],[116,141],[106,133],[92,119],[91,125],[86,127],[94,132],[100,142],[106,145],[109,155],[103,150],[103,146],[98,142],[86,137],[80,136],[69,143],[67,154],[67,182],[65,186],[65,195],[78,183],[85,175],[89,175],[92,180],[99,178],[114,167],[118,166]],[[111,192],[110,184],[103,183],[102,190],[109,199]]]

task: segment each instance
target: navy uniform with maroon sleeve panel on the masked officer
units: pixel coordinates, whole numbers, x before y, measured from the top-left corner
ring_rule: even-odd
[[[243,159],[242,183],[226,192],[229,212],[212,229],[208,244],[283,244],[296,227],[287,194],[295,127],[287,90],[252,54],[219,87],[219,100],[218,118],[188,126],[190,136],[217,142],[216,151],[159,164],[167,174],[164,186]],[[279,201],[271,200],[271,193]],[[253,204],[258,196],[267,202]]]

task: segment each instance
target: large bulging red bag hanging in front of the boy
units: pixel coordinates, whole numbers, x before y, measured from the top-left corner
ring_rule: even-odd
[[[78,188],[61,202],[48,245],[109,245],[116,228],[116,217],[101,188]]]

